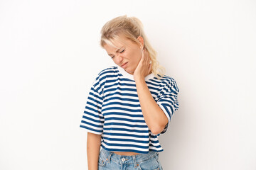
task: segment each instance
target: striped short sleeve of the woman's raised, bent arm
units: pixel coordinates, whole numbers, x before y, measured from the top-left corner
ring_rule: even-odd
[[[174,111],[178,110],[178,93],[179,90],[176,81],[174,79],[170,79],[169,83],[161,90],[159,98],[156,101],[168,118],[168,124],[161,133],[166,132]]]

